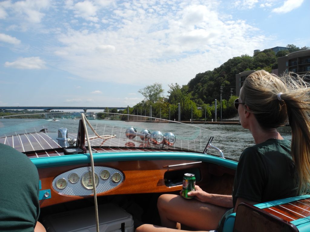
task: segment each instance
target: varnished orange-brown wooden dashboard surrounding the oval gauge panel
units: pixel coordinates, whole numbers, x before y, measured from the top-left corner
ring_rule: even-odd
[[[187,165],[174,168],[163,168],[166,165],[183,164],[186,162],[184,160],[157,160],[157,161],[117,161],[117,162],[107,162],[107,163],[96,163],[96,166],[106,166],[116,168],[121,170],[125,176],[123,183],[118,187],[106,191],[104,193],[98,194],[98,196],[103,195],[115,195],[115,194],[134,194],[134,193],[156,193],[156,192],[171,192],[181,190],[182,185],[167,187],[164,183],[164,174],[168,170],[182,170],[187,168],[199,167],[201,169],[201,175],[208,175],[207,165],[204,163]],[[60,166],[53,168],[43,168],[38,169],[40,180],[42,182],[42,189],[51,189],[51,199],[41,200],[40,205],[46,207],[52,204],[59,204],[67,201],[78,200],[90,196],[67,196],[62,195],[54,191],[51,183],[55,176],[64,173],[66,171],[89,166],[85,165],[69,165]],[[199,184],[199,182],[197,183]]]

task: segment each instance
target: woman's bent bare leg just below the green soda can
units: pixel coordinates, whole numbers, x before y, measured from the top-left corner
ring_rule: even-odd
[[[179,222],[204,231],[217,229],[219,220],[227,211],[227,208],[172,194],[161,195],[157,208],[164,227],[180,229]]]

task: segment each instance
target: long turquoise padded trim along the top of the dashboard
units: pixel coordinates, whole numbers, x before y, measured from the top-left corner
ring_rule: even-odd
[[[120,153],[95,153],[94,162],[133,161],[133,160],[193,160],[222,165],[237,169],[237,162],[220,157],[200,153],[184,152],[120,152]],[[89,154],[64,155],[54,157],[41,157],[30,159],[37,168],[49,168],[64,165],[90,163]]]

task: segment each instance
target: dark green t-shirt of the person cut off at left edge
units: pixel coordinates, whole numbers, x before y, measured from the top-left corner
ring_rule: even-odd
[[[0,231],[33,232],[40,213],[39,175],[23,153],[0,143]]]

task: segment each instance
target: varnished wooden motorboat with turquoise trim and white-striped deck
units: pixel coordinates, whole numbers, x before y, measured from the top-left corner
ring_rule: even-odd
[[[139,222],[160,225],[157,198],[163,193],[179,194],[184,173],[195,174],[197,185],[210,193],[232,192],[237,161],[207,153],[215,148],[212,137],[201,151],[177,146],[182,144],[175,143],[178,135],[146,129],[138,133],[133,127],[124,137],[87,140],[84,124],[80,120],[75,134],[60,128],[58,135],[43,129],[0,138],[1,143],[27,155],[38,168],[39,221],[47,231],[95,231],[93,178],[99,228],[107,232],[131,232]],[[255,206],[241,204],[225,221],[224,232],[249,228],[310,231],[310,195]]]

